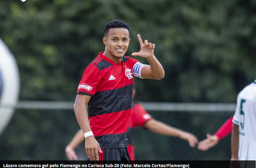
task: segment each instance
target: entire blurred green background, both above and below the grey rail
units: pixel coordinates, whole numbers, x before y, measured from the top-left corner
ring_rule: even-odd
[[[135,102],[236,103],[256,78],[253,0],[5,0],[0,38],[19,67],[19,101],[74,101],[84,69],[104,51],[104,24],[113,19],[131,27],[126,55],[139,51],[140,34],[155,43],[165,70],[160,81],[136,79]],[[148,112],[200,140],[234,114]],[[18,108],[0,134],[0,160],[65,160],[78,129],[72,109]],[[135,147],[138,160],[230,159],[230,136],[201,152],[178,138],[136,129]],[[83,145],[77,153],[83,159]]]

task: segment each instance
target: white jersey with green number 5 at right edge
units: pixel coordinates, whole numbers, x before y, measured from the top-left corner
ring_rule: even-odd
[[[239,160],[256,160],[256,80],[238,94],[232,121],[239,125]]]

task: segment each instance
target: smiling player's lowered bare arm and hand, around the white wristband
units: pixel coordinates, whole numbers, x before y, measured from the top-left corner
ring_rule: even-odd
[[[88,119],[88,112],[86,105],[90,100],[90,96],[84,94],[77,94],[76,101],[74,104],[74,112],[77,118],[77,122],[80,128],[83,130],[83,133],[91,131]],[[90,160],[99,160],[99,154],[102,153],[100,144],[94,138],[94,136],[87,136],[85,138],[85,150],[87,158]]]

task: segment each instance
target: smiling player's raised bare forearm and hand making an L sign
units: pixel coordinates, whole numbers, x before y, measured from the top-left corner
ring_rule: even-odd
[[[149,79],[157,79],[157,80],[162,79],[165,75],[165,72],[162,65],[154,55],[155,44],[152,44],[151,42],[148,43],[148,40],[145,40],[143,43],[139,34],[138,34],[138,40],[139,40],[141,49],[139,52],[134,52],[131,55],[146,58],[149,62],[149,65],[145,65],[141,69],[141,76],[143,78],[149,78]]]

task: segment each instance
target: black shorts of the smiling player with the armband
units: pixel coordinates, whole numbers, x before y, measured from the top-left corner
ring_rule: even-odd
[[[127,148],[106,148],[99,153],[99,160],[131,160]]]

